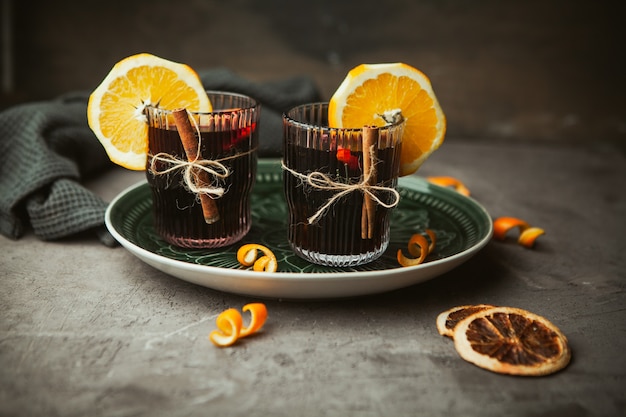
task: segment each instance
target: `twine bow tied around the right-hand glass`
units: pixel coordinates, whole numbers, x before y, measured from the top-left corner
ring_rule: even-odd
[[[372,160],[375,159],[375,156],[372,152]],[[361,191],[364,194],[369,195],[372,200],[374,200],[377,204],[385,207],[385,208],[393,208],[398,205],[400,202],[400,193],[392,187],[383,187],[380,185],[370,185],[369,180],[372,176],[374,170],[372,169],[367,176],[363,176],[360,182],[346,184],[343,182],[334,181],[330,175],[324,174],[319,171],[313,171],[309,174],[303,174],[301,172],[295,171],[285,165],[284,161],[281,161],[282,168],[289,172],[294,177],[298,178],[301,183],[308,184],[312,188],[320,191],[335,191],[332,197],[330,197],[312,216],[310,216],[307,221],[309,224],[316,223],[325,213],[326,211],[341,199],[343,196],[353,193],[355,191]],[[372,164],[373,166],[374,164]],[[392,196],[391,203],[385,203],[382,201],[376,193],[389,193]]]

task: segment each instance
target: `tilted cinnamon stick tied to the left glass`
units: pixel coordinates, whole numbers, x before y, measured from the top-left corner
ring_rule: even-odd
[[[187,154],[187,160],[189,162],[194,162],[200,156],[200,152],[198,150],[200,142],[199,138],[196,138],[194,129],[189,122],[187,110],[177,109],[173,111],[173,114],[176,127],[178,128],[178,134],[180,135],[180,140],[182,141],[183,148],[185,148],[185,153]],[[202,170],[198,170],[195,179],[196,186],[198,187],[205,187],[210,182],[208,173]],[[210,196],[200,193],[200,203],[202,204],[204,221],[207,224],[215,223],[220,219],[217,204]]]

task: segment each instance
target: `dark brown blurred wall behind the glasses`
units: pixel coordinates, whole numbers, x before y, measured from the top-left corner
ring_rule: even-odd
[[[0,109],[91,91],[138,52],[307,74],[326,99],[360,63],[403,61],[431,78],[448,139],[626,138],[625,2],[0,1]]]

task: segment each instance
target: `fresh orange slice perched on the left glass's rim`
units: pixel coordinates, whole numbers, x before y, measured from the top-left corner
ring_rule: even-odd
[[[188,65],[151,54],[137,54],[113,66],[91,93],[87,120],[111,161],[144,170],[148,154],[148,125],[144,108],[211,111],[211,102],[198,74]]]

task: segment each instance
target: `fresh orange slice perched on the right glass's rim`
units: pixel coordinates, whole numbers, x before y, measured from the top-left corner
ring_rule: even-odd
[[[406,120],[400,175],[417,171],[446,132],[446,118],[430,80],[403,63],[361,64],[353,68],[328,103],[331,127],[384,126]]]

